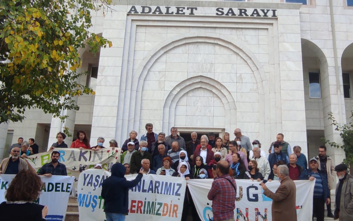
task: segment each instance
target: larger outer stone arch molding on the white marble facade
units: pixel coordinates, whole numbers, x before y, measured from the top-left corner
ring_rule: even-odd
[[[264,69],[256,56],[247,49],[244,45],[239,42],[235,42],[231,37],[215,34],[215,33],[186,33],[175,35],[169,39],[159,43],[153,50],[151,50],[146,57],[139,64],[134,76],[137,81],[133,81],[131,85],[131,99],[129,105],[129,119],[134,119],[133,123],[130,121],[128,128],[139,128],[140,121],[140,105],[142,99],[143,82],[145,77],[154,64],[154,62],[162,56],[162,54],[171,50],[172,48],[189,44],[189,43],[213,43],[223,47],[227,47],[230,50],[237,53],[241,58],[243,58],[249,65],[253,74],[255,75],[258,91],[262,97],[269,97],[269,85],[268,79],[265,75]],[[135,99],[133,99],[135,98]],[[259,105],[264,106],[264,99],[259,99]],[[270,113],[264,108],[265,119],[269,119]],[[266,117],[267,116],[267,117]],[[119,121],[119,120],[118,120]],[[118,123],[117,121],[117,123]],[[265,123],[265,122],[263,122]],[[118,124],[117,124],[118,125]],[[164,127],[163,127],[164,128]],[[164,131],[164,129],[163,129]]]

